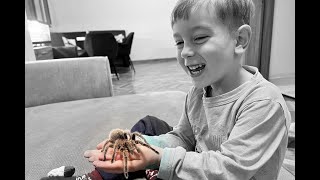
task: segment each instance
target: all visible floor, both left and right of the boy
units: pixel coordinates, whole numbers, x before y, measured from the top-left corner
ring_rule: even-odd
[[[192,83],[175,59],[134,62],[136,73],[130,68],[118,68],[120,79],[112,78],[114,95],[137,94],[150,91],[180,90],[187,92]],[[294,81],[274,82],[283,94],[295,96]],[[285,96],[292,120],[295,122],[295,100]],[[293,133],[294,140],[294,133]],[[294,144],[294,143],[293,143]],[[284,167],[295,175],[295,148],[288,148]]]

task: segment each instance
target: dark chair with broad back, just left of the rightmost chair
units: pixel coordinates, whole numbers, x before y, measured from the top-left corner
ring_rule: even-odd
[[[86,34],[84,48],[89,56],[107,56],[111,68],[119,80],[117,68],[114,60],[118,54],[118,43],[111,33],[95,33],[89,32]]]

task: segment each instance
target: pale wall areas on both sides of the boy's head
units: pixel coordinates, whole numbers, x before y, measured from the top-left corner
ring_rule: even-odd
[[[131,58],[176,56],[170,13],[177,0],[50,0],[53,32],[135,32]],[[295,75],[295,1],[275,0],[269,79]]]

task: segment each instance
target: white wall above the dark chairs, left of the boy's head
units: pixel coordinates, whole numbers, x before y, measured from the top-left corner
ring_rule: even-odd
[[[135,32],[131,59],[172,58],[170,13],[177,0],[50,0],[52,32]]]

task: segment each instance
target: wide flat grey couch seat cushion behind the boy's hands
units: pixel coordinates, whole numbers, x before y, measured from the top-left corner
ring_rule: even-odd
[[[71,165],[75,175],[93,170],[83,157],[111,129],[131,127],[146,115],[178,123],[186,93],[152,92],[60,102],[25,108],[25,178],[40,179],[53,168]]]

